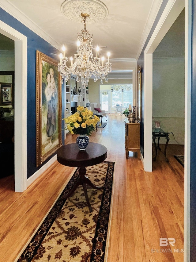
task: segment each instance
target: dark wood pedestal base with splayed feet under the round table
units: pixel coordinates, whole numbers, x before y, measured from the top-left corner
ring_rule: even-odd
[[[104,186],[95,186],[93,185],[93,183],[90,181],[90,179],[85,175],[86,174],[86,168],[85,167],[80,167],[79,168],[79,175],[80,177],[78,178],[77,182],[75,183],[74,187],[71,189],[71,191],[67,194],[67,195],[64,195],[61,197],[61,200],[63,199],[66,199],[68,197],[70,197],[74,191],[76,190],[76,188],[79,186],[79,185],[82,185],[83,186],[83,189],[84,189],[84,193],[85,193],[85,198],[86,198],[86,202],[87,202],[87,205],[89,207],[89,210],[90,212],[92,212],[92,207],[90,205],[90,202],[89,202],[89,197],[88,197],[88,194],[87,194],[87,189],[86,189],[86,184],[88,184],[90,187],[94,188],[94,189],[103,189]]]

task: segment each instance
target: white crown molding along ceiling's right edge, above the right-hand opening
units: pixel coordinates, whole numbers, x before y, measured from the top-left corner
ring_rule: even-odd
[[[137,52],[137,55],[136,55],[136,60],[138,60],[138,58],[141,54],[141,51],[142,51],[142,49],[145,45],[145,42],[148,38],[150,30],[153,27],[154,21],[155,21],[156,16],[159,12],[160,6],[162,5],[162,2],[163,2],[163,0],[161,0],[161,1],[154,0],[153,3],[152,3],[147,22],[145,24],[145,28],[144,28],[144,31],[142,33],[141,41],[140,41],[140,44],[139,44],[140,48],[138,49],[138,52]]]

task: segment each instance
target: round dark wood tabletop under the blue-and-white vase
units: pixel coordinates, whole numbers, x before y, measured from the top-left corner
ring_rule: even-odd
[[[99,164],[107,158],[107,148],[89,142],[85,151],[80,151],[76,143],[66,144],[57,150],[57,160],[69,167],[88,167]]]

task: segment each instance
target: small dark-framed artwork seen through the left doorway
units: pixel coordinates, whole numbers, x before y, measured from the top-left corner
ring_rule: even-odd
[[[0,94],[0,106],[12,105],[12,84],[0,83],[1,94]]]

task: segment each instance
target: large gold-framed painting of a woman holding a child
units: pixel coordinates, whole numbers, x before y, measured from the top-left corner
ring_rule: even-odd
[[[36,166],[62,146],[58,61],[36,51]]]

